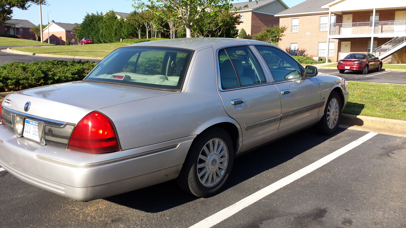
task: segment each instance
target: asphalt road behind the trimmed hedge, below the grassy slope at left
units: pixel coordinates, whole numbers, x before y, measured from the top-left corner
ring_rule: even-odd
[[[7,49],[6,46],[0,46],[0,50]],[[42,57],[42,56],[26,56],[26,55],[19,55],[19,54],[12,54],[6,52],[0,52],[0,65],[4,65],[6,63],[18,61],[18,62],[40,62],[42,60],[65,60],[71,61],[73,58],[56,58],[56,57]],[[79,59],[75,59],[78,61]],[[101,60],[88,60],[88,59],[81,59],[82,61],[91,61],[91,62],[100,62]]]

